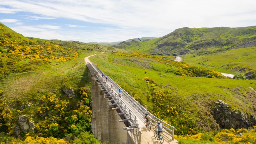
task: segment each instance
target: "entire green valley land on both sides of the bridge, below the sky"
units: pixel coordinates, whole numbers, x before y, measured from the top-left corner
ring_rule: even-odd
[[[84,61],[96,64],[148,111],[173,125],[181,143],[256,141],[255,26],[184,27],[114,46],[28,38],[0,26],[3,143],[101,143],[91,133]],[[67,90],[75,96],[67,96]],[[33,121],[33,130],[16,129],[22,115]]]

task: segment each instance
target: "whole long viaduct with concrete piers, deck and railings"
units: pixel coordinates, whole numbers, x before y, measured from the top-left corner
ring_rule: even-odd
[[[144,124],[144,115],[151,118],[151,127],[160,121],[163,125],[164,144],[177,144],[174,139],[174,127],[163,122],[147,111],[131,95],[116,84],[110,77],[106,82],[103,73],[96,65],[88,62],[91,79],[91,118],[92,132],[102,143],[111,144],[156,144],[160,143],[154,137],[154,129],[148,130]],[[113,86],[111,87],[111,82]],[[118,90],[122,90],[121,97]]]

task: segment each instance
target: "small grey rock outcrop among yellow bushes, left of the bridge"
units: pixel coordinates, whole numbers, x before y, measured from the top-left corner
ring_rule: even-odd
[[[35,125],[33,121],[28,121],[26,115],[19,117],[18,125],[15,128],[15,136],[19,137],[22,133],[34,131]]]

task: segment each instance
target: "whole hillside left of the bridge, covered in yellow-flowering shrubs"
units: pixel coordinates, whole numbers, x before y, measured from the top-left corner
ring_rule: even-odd
[[[0,24],[0,143],[100,143],[91,134],[84,57],[109,50],[114,48],[26,38]],[[64,94],[69,88],[75,97]],[[17,129],[22,115],[34,129]]]

